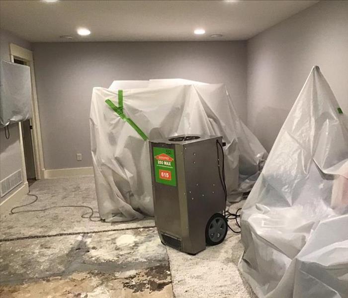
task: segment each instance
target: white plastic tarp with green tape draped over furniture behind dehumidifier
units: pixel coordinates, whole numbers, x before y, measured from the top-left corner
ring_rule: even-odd
[[[183,134],[223,136],[228,193],[251,189],[267,153],[237,116],[223,84],[182,79],[138,82],[114,81],[109,89],[93,88],[90,137],[102,219],[154,215],[149,145],[125,118],[150,140]],[[135,88],[138,85],[147,87]],[[133,89],[117,91],[125,86]],[[122,112],[117,108],[120,95]],[[105,103],[107,99],[117,112]]]

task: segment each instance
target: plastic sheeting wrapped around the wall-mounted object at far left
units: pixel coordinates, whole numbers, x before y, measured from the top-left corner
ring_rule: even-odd
[[[32,117],[30,68],[0,62],[0,127]]]

